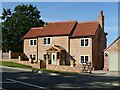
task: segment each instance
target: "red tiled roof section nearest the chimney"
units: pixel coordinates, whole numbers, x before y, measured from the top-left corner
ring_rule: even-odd
[[[99,23],[97,21],[79,22],[72,34],[72,37],[94,35],[98,25]]]

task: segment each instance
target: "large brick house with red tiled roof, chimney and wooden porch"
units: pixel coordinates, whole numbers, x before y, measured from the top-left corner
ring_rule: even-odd
[[[91,62],[94,69],[103,69],[106,48],[103,11],[98,20],[89,22],[49,22],[31,28],[24,36],[24,53],[28,58],[46,63],[47,69],[78,70]],[[72,68],[74,67],[74,68]]]

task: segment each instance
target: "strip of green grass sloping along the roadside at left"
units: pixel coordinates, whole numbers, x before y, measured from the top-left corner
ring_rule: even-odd
[[[15,62],[8,62],[8,61],[0,61],[1,66],[8,66],[8,67],[17,67],[17,68],[25,68],[25,69],[32,69],[31,66],[15,63]]]

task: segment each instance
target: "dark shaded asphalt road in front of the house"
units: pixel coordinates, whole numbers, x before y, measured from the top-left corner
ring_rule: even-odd
[[[1,68],[1,67],[0,67]],[[93,74],[43,74],[26,70],[2,67],[2,87],[0,90],[118,90],[118,77],[103,72]]]

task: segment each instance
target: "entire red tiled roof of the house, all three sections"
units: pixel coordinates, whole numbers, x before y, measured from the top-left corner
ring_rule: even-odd
[[[38,36],[71,35],[71,37],[94,35],[99,22],[51,22],[44,27],[31,28],[24,38],[35,38]]]

